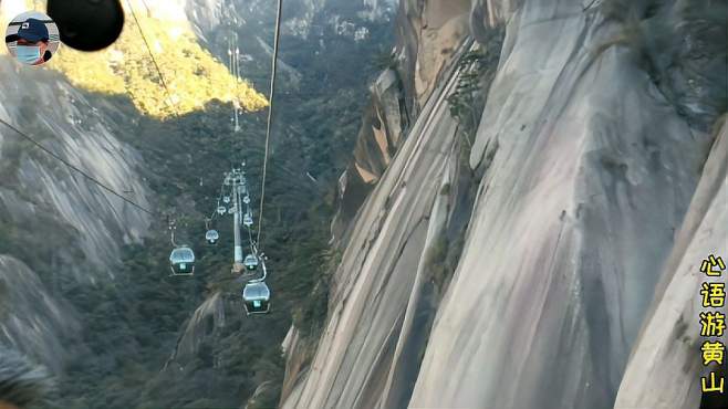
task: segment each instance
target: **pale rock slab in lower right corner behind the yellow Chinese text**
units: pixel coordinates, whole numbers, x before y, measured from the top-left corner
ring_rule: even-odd
[[[622,379],[615,408],[698,408],[700,377],[715,367],[701,365],[700,285],[721,281],[700,272],[710,254],[728,254],[728,127],[713,145],[685,222],[665,265],[661,285]],[[726,336],[710,338],[726,343]]]

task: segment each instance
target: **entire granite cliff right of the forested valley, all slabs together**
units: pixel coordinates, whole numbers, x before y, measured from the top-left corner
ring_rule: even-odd
[[[327,324],[308,365],[287,348],[282,407],[697,407],[696,268],[728,240],[720,12],[402,1],[405,104],[366,115],[412,125],[365,123]],[[470,140],[448,107],[457,61],[499,30]]]

